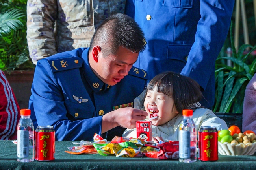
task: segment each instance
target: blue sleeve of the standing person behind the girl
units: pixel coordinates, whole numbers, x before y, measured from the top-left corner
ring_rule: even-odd
[[[233,7],[234,0],[200,0],[195,42],[181,74],[196,80],[204,90],[228,34]]]

